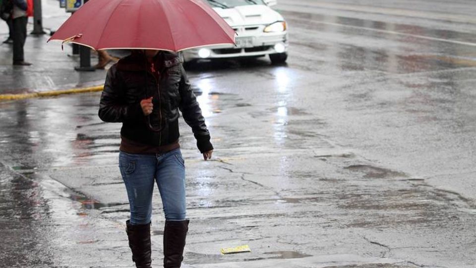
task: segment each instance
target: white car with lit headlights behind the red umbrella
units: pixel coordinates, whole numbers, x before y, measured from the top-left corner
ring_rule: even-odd
[[[273,64],[288,58],[288,26],[283,16],[271,9],[276,0],[203,0],[237,31],[236,45],[217,45],[183,51],[185,63],[200,59],[261,57]]]

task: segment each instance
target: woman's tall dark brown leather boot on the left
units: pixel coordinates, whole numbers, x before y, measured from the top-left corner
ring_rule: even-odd
[[[132,251],[132,261],[136,268],[151,268],[150,222],[148,224],[132,225],[125,222],[129,248]]]

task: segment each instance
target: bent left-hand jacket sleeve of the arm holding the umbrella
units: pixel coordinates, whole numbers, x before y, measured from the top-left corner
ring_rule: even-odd
[[[124,82],[116,66],[109,69],[99,103],[99,118],[104,122],[132,122],[144,118],[140,102],[127,104],[124,97]]]

